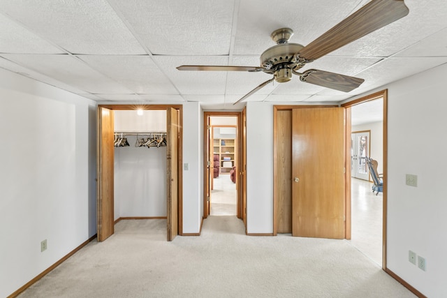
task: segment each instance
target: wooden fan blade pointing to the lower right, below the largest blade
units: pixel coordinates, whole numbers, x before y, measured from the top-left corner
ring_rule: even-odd
[[[309,69],[301,75],[300,80],[321,87],[335,89],[339,91],[349,92],[365,82],[358,77],[349,77],[348,75],[340,75],[339,73],[329,73],[328,71]]]

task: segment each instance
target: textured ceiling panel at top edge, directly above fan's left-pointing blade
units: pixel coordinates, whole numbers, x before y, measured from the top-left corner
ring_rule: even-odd
[[[234,1],[110,2],[153,54],[221,55],[230,51]]]

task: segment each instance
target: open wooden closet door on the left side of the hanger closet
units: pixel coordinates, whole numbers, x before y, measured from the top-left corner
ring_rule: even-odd
[[[98,107],[98,160],[96,166],[97,239],[104,241],[114,232],[113,111]]]

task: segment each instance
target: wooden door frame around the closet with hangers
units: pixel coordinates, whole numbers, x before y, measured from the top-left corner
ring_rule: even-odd
[[[183,235],[183,171],[180,170],[182,169],[182,164],[183,164],[183,105],[145,105],[145,104],[141,104],[141,105],[129,105],[129,104],[124,104],[124,105],[115,105],[115,104],[110,104],[110,105],[98,105],[98,111],[101,110],[100,108],[106,108],[108,110],[138,110],[138,109],[142,109],[142,110],[167,110],[169,107],[172,107],[175,110],[179,111],[179,139],[178,139],[178,159],[177,159],[177,165],[178,165],[178,184],[177,184],[177,191],[178,191],[178,234],[179,235]],[[98,118],[98,122],[101,119]],[[100,128],[101,124],[97,123],[97,127]],[[98,140],[101,140],[102,137],[102,133],[101,131],[99,131],[99,129],[97,130],[98,135],[96,136]],[[96,151],[96,158],[97,158],[97,177],[96,177],[96,188],[101,188],[102,185],[102,177],[101,174],[98,172],[98,167],[99,165],[99,161],[100,161],[100,151],[99,151],[99,142],[98,142],[98,149]],[[107,198],[108,200],[112,200],[113,198]],[[111,202],[113,203],[113,202]],[[103,198],[101,198],[101,195],[98,191],[96,191],[96,206],[99,206],[100,204],[103,204]],[[113,204],[112,204],[113,206]],[[112,208],[112,214],[114,213],[114,210]],[[102,209],[101,208],[97,208],[96,210],[96,223],[97,226],[99,226],[101,224],[101,218],[103,218],[103,214],[102,214]],[[113,220],[112,220],[113,221]],[[97,233],[99,234],[99,231],[97,231]],[[99,239],[98,241],[103,241],[105,239]]]

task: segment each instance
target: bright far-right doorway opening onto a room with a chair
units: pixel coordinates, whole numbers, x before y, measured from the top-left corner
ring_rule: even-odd
[[[353,167],[349,189],[351,193],[351,239],[349,241],[374,262],[385,267],[383,260],[385,260],[386,192],[372,193],[372,180],[369,174],[359,174],[363,170],[362,164],[358,163],[362,157],[366,156],[378,161],[380,173],[385,168],[386,98],[382,94],[386,95],[386,92],[360,98],[360,101],[346,109],[351,114],[351,135],[354,135],[351,143]],[[366,147],[363,150],[359,149],[362,144]],[[360,154],[365,150],[367,154]]]

